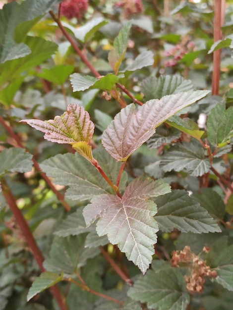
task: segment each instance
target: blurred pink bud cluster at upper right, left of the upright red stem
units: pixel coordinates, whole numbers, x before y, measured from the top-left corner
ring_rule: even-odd
[[[170,57],[165,60],[165,67],[173,67],[176,63],[183,58],[183,55],[187,52],[191,52],[194,48],[194,43],[189,42],[186,47],[181,46],[180,44],[176,44],[174,48],[169,51],[164,52],[164,56]]]

